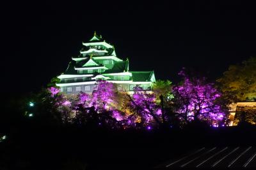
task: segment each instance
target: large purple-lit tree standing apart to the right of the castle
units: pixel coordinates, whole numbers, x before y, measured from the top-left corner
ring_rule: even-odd
[[[184,78],[182,85],[173,88],[179,120],[185,123],[201,120],[207,121],[211,125],[225,121],[225,111],[216,104],[216,99],[221,94],[213,84],[206,83],[205,78],[189,79],[183,71],[180,72],[180,75]]]

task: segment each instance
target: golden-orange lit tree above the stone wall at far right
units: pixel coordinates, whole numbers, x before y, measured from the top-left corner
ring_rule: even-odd
[[[232,94],[237,101],[256,100],[256,58],[229,66],[217,81],[221,91],[225,95]]]

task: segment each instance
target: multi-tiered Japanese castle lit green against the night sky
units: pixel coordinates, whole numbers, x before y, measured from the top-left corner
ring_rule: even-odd
[[[113,45],[96,33],[83,45],[79,56],[72,58],[67,70],[58,76],[56,85],[63,93],[92,93],[99,80],[115,83],[118,91],[132,91],[136,85],[151,90],[156,81],[154,71],[131,72],[129,60],[118,58]]]

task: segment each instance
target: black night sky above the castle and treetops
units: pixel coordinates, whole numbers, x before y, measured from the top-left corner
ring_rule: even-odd
[[[94,31],[129,58],[130,70],[154,70],[157,79],[173,82],[183,66],[214,80],[228,65],[256,55],[253,4],[178,2],[4,4],[1,82],[18,93],[40,89]]]

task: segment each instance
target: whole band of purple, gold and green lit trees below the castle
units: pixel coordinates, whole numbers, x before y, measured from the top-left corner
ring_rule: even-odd
[[[227,124],[227,102],[214,84],[185,70],[180,75],[182,82],[175,86],[170,81],[157,81],[152,91],[135,86],[129,93],[118,91],[116,84],[108,81],[97,81],[92,94],[65,95],[52,86],[35,98],[36,115],[62,123],[149,130],[196,121],[214,126]]]

